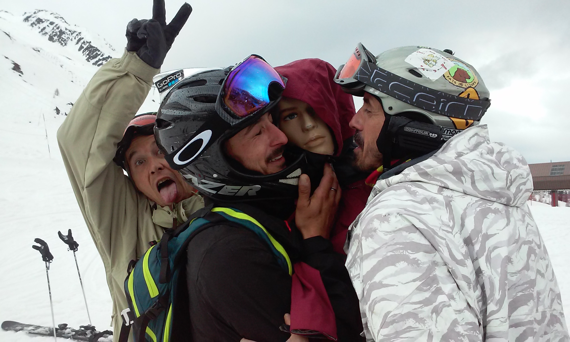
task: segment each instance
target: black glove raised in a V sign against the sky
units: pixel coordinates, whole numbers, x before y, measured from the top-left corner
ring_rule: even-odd
[[[127,24],[127,51],[136,51],[140,59],[153,68],[160,68],[174,38],[190,17],[192,7],[184,3],[166,25],[164,0],[154,0],[152,19],[133,19]]]

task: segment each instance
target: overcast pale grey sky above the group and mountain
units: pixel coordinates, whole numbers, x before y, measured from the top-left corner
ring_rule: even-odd
[[[184,3],[166,0],[166,17]],[[450,48],[491,92],[482,123],[491,139],[528,162],[570,160],[570,1],[206,1],[193,13],[162,70],[235,64],[262,55],[278,66],[300,58],[343,64],[356,43],[374,54],[397,46]],[[152,0],[2,0],[0,9],[59,13],[100,34],[120,55],[125,26],[149,18]]]

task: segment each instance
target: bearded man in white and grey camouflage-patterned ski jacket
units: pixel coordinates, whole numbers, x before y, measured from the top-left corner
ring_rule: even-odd
[[[478,125],[478,72],[450,50],[359,44],[335,81],[364,96],[357,166],[382,165],[345,246],[367,340],[570,340],[530,170]]]

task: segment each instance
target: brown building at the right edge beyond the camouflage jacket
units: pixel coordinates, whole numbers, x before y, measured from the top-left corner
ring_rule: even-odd
[[[548,192],[548,202],[558,206],[558,201],[570,202],[570,161],[528,164],[531,169],[535,192]],[[534,195],[533,195],[534,197]],[[540,197],[542,198],[541,194]],[[537,198],[532,198],[538,200]]]

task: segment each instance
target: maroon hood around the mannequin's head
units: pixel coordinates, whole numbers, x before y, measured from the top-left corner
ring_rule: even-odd
[[[343,149],[343,141],[355,133],[348,123],[356,111],[352,95],[345,93],[333,80],[335,67],[318,58],[307,58],[275,67],[275,70],[287,78],[283,97],[310,104],[331,128],[337,145],[335,154],[338,155]]]

